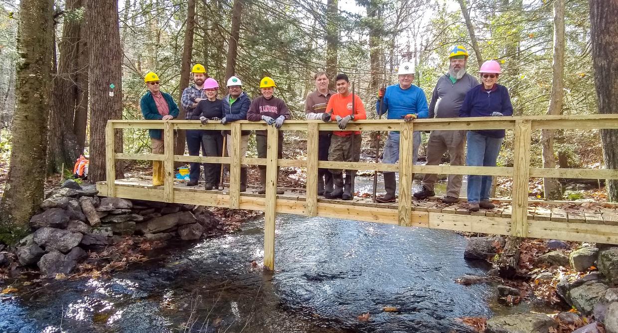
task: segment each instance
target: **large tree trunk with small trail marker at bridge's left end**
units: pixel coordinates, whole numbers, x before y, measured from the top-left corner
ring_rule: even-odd
[[[106,178],[105,126],[122,118],[122,49],[117,0],[86,0],[88,30],[88,92],[90,108],[91,183]],[[114,84],[114,88],[110,87]],[[122,152],[122,131],[114,137],[115,151]],[[116,162],[116,179],[124,178],[122,163]]]

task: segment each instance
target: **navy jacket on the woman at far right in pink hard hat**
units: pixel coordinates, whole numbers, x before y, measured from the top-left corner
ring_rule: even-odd
[[[494,84],[491,91],[485,91],[483,84],[470,89],[465,94],[464,104],[459,110],[459,117],[490,117],[491,113],[500,112],[505,116],[513,115],[509,91],[505,86]],[[504,138],[504,130],[475,130],[491,138]]]

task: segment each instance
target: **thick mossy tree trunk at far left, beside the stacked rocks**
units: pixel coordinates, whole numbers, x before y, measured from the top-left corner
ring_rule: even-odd
[[[28,232],[43,200],[47,120],[54,43],[53,0],[22,0],[17,34],[17,108],[12,123],[11,167],[1,202],[0,241]]]

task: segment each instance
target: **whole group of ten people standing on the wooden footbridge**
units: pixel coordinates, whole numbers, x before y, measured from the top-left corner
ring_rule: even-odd
[[[412,121],[417,118],[454,117],[502,117],[512,115],[513,108],[507,89],[497,80],[501,67],[496,60],[488,60],[481,65],[479,74],[482,84],[466,71],[468,52],[464,46],[454,46],[449,52],[449,71],[438,79],[431,101],[428,104],[425,92],[413,85],[415,69],[413,64],[404,62],[398,70],[398,83],[378,91],[376,112],[387,119]],[[201,64],[192,68],[194,85],[182,92],[181,103],[187,120],[219,121],[227,124],[237,120],[264,121],[268,125],[281,128],[284,121],[291,118],[286,103],[274,97],[276,84],[268,76],[260,81],[261,95],[253,100],[242,90],[242,82],[236,76],[227,80],[228,94],[218,99],[219,84],[213,78],[206,78],[206,70]],[[350,121],[366,119],[362,100],[350,91],[347,75],[335,78],[336,91],[329,89],[329,78],[325,72],[314,76],[316,90],[308,94],[305,101],[305,115],[308,120],[337,121],[340,131],[321,131],[318,141],[318,159],[338,162],[358,162],[362,137],[360,131],[346,130]],[[172,97],[161,92],[158,76],[150,72],[145,77],[148,92],[142,97],[140,106],[144,118],[148,120],[171,120],[177,118],[179,109]],[[150,130],[153,154],[163,153],[161,130]],[[495,167],[497,155],[504,139],[504,130],[439,130],[431,131],[427,144],[427,165],[439,165],[442,156],[448,152],[451,165],[470,165]],[[249,131],[242,131],[240,156],[247,152]],[[266,131],[256,131],[258,157],[266,157]],[[187,130],[189,155],[222,156],[224,136],[227,151],[231,151],[231,134],[215,130]],[[281,158],[283,132],[278,131]],[[417,162],[421,134],[413,133],[413,163]],[[467,146],[467,152],[464,152]],[[390,131],[383,151],[384,163],[397,163],[399,160],[399,132]],[[277,170],[277,175],[279,170]],[[345,178],[344,178],[345,173]],[[351,200],[355,170],[318,170],[318,195],[328,199]],[[205,188],[216,189],[220,183],[221,164],[204,164]],[[196,186],[200,178],[200,163],[191,163],[188,186]],[[417,199],[434,196],[436,175],[427,174],[421,183],[420,191],[413,195]],[[260,165],[261,188],[258,194],[266,191],[266,167]],[[163,165],[153,161],[153,185],[163,184]],[[396,202],[396,175],[384,172],[386,194],[376,200],[381,203]],[[450,175],[446,195],[442,202],[453,204],[459,200],[462,185],[461,175]],[[489,200],[491,176],[468,176],[468,208],[493,208]],[[247,191],[247,166],[240,169],[240,191]],[[282,194],[277,190],[277,194]]]

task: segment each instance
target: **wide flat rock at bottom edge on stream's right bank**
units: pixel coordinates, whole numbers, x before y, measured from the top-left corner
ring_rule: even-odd
[[[487,321],[487,333],[547,333],[554,319],[543,313],[496,316]]]

